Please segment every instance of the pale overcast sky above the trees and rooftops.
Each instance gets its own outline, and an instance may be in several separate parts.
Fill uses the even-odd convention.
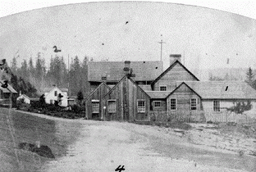
[[[0,16],[5,16],[0,18],[0,54],[8,61],[17,55],[19,61],[28,60],[43,52],[48,62],[55,56],[53,45],[62,49],[60,55],[66,62],[68,54],[78,55],[80,60],[86,55],[97,61],[158,61],[158,42],[163,39],[165,68],[171,53],[181,53],[189,69],[256,64],[255,2],[193,3],[243,16],[162,2],[90,2],[59,7],[48,6],[71,1],[0,2]],[[28,11],[39,7],[48,8]],[[20,11],[26,12],[7,16]]]

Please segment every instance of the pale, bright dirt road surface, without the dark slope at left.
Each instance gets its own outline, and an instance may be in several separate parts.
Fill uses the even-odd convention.
[[[253,171],[255,159],[197,147],[158,127],[82,121],[80,137],[66,156],[42,171]],[[208,151],[212,149],[212,151]]]

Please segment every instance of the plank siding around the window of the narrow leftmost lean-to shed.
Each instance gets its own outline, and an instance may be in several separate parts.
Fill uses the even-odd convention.
[[[100,87],[94,90],[94,93],[92,93],[89,96],[89,98],[85,101],[85,116],[88,119],[98,119],[101,117],[103,112],[102,99],[103,96],[106,95],[109,91],[109,88],[106,85],[102,84]],[[92,100],[99,100],[98,114],[93,114]]]

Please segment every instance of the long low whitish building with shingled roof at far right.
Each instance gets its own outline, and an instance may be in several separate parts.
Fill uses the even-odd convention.
[[[247,104],[256,109],[256,90],[244,81],[185,82],[201,97],[201,110],[226,111],[236,103]]]

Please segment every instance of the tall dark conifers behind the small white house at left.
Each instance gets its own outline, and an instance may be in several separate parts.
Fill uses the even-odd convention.
[[[84,60],[80,61],[79,57],[75,56],[71,58],[68,69],[64,58],[56,55],[51,57],[47,68],[44,57],[38,52],[35,59],[30,57],[29,61],[23,60],[18,67],[16,57],[13,57],[11,71],[14,76],[11,77],[11,84],[16,91],[30,97],[42,95],[43,88],[53,87],[53,84],[58,88],[69,88],[69,96],[76,97],[79,92],[86,96],[89,94],[88,61],[89,57],[85,56]]]

